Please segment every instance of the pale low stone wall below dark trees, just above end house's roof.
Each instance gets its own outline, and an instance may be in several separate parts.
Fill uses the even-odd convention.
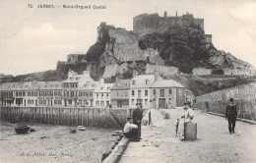
[[[146,74],[155,74],[155,72],[160,72],[164,75],[173,75],[178,74],[178,69],[175,67],[166,67],[160,65],[150,65],[147,64],[146,66]]]

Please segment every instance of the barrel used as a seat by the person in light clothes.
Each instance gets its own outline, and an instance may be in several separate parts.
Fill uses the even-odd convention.
[[[186,122],[184,125],[184,139],[195,140],[197,139],[197,124]]]

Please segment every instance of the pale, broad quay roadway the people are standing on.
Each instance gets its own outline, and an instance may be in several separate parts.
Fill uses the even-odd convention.
[[[182,109],[165,110],[170,119],[163,119],[158,110],[152,110],[152,127],[142,127],[142,140],[130,142],[121,163],[164,162],[256,162],[256,126],[236,122],[236,134],[229,135],[227,121],[195,111],[197,140],[185,141],[175,137],[175,120]]]

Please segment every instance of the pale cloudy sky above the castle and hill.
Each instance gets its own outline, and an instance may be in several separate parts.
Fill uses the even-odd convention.
[[[29,7],[32,4],[33,8]],[[106,9],[37,8],[38,5],[94,5]],[[167,11],[205,19],[219,50],[256,67],[255,0],[1,0],[0,74],[55,70],[71,53],[86,53],[100,22],[132,30],[133,17]]]

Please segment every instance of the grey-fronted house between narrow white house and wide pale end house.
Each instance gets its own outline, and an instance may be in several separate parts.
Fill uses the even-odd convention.
[[[131,80],[116,81],[111,88],[111,105],[113,108],[128,108]]]

